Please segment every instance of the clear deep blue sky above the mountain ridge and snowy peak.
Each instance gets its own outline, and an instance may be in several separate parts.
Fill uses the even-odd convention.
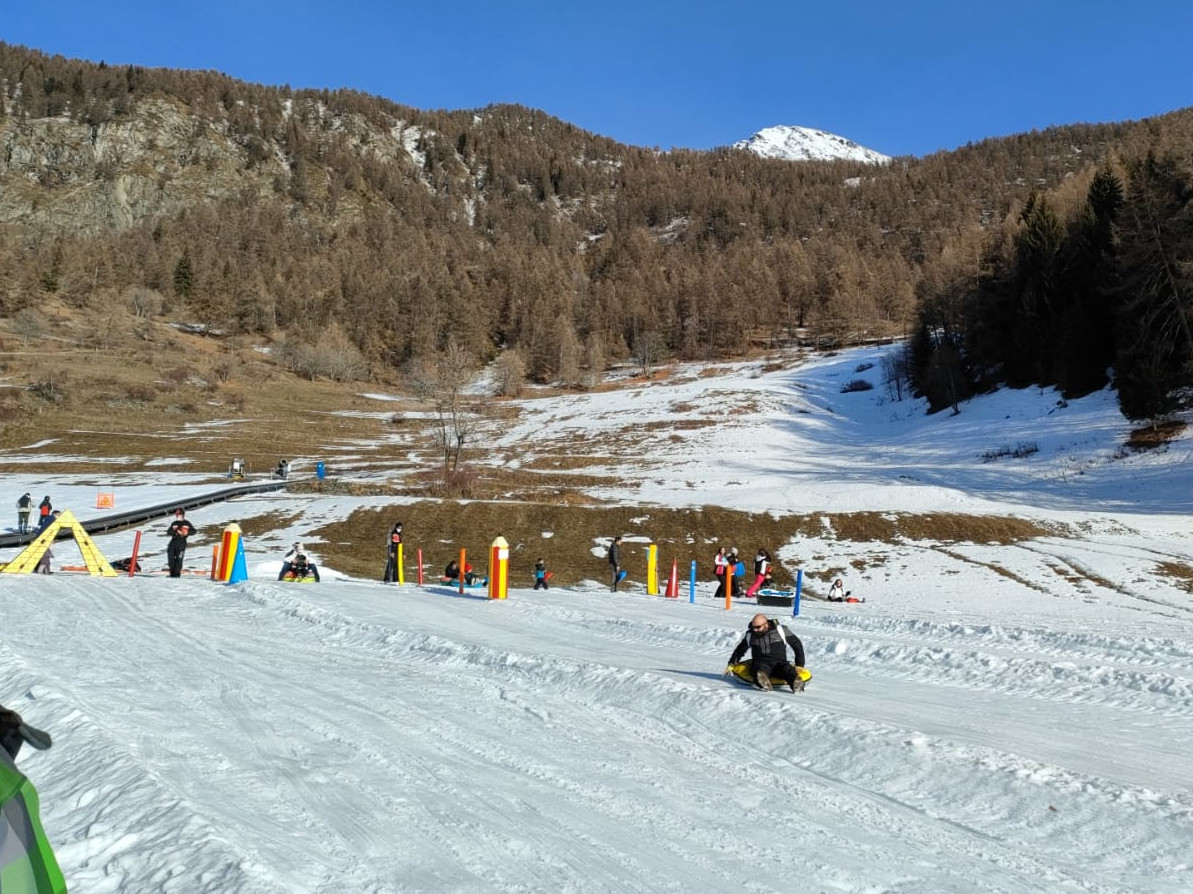
[[[925,155],[1193,105],[1188,0],[0,0],[50,54],[352,87],[418,109],[519,103],[624,143],[773,124]]]

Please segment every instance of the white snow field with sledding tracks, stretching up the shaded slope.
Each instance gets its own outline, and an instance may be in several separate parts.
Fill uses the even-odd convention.
[[[815,674],[803,693],[724,679],[756,608],[727,611],[706,569],[694,603],[686,586],[647,596],[641,549],[617,594],[589,581],[490,602],[350,579],[334,555],[316,555],[322,584],[272,580],[289,542],[382,498],[190,513],[199,566],[241,514],[295,519],[247,544],[249,580],[231,586],[0,575],[0,702],[55,738],[20,765],[70,889],[1193,890],[1193,439],[1123,450],[1109,393],[1003,391],[926,417],[883,393],[889,350],[527,397],[492,434],[493,462],[599,449],[596,495],[644,516],[710,503],[1052,531],[890,544],[826,524],[773,544],[809,594],[830,582],[818,566],[864,560],[846,581],[864,604],[805,598],[787,619]],[[859,377],[876,388],[841,393]],[[685,413],[727,421],[669,427]],[[52,451],[0,456],[10,505],[93,501],[93,481],[21,471]],[[117,468],[107,489],[131,508],[221,486],[154,476]],[[97,542],[118,557],[131,537]]]

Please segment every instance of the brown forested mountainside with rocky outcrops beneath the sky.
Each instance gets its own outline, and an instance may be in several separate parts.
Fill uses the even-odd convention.
[[[1167,172],[1157,214],[1187,217],[1191,130],[1183,111],[885,167],[789,162],[622,146],[520,106],[420,111],[0,43],[0,314],[119,303],[322,344],[351,362],[313,374],[358,377],[455,341],[478,359],[517,351],[531,377],[564,384],[613,359],[736,356],[797,331],[919,332],[920,386],[959,395],[1059,375],[984,351],[1038,359],[1104,328],[1039,284],[1024,240],[1045,206],[1067,238],[1094,238],[1077,230],[1100,169],[1129,185],[1143,234],[1127,172],[1148,158]],[[1141,277],[1160,282],[1156,264],[1183,275],[1187,226],[1172,239]],[[1039,296],[1049,326],[1021,315],[982,343],[973,327],[991,323],[971,308],[991,289],[1008,307]]]

